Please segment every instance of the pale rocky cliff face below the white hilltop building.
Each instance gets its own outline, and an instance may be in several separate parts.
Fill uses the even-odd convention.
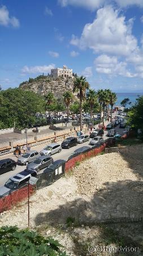
[[[29,81],[22,82],[19,87],[24,90],[31,90],[32,92],[41,95],[53,92],[55,97],[60,98],[67,90],[72,92],[73,79],[64,79],[63,77],[54,79],[50,76],[38,76],[36,79],[29,79]]]

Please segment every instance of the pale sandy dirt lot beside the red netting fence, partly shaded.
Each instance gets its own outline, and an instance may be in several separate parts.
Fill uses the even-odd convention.
[[[31,197],[31,228],[58,239],[72,256],[97,255],[88,251],[88,246],[93,243],[142,246],[142,222],[114,226],[96,224],[107,219],[142,217],[142,167],[143,159],[119,153],[99,155],[84,161],[72,173],[38,190]],[[69,217],[70,224],[67,222]],[[0,226],[3,225],[26,228],[27,201],[1,213]],[[107,237],[112,239],[107,242]],[[136,255],[143,255],[140,250]],[[102,255],[110,254],[102,252]]]

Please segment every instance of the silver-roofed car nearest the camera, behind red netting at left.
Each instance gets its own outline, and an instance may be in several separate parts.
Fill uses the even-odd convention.
[[[5,185],[0,187],[0,198],[9,195],[11,192],[26,185],[31,177],[36,177],[36,171],[22,171],[7,180]]]

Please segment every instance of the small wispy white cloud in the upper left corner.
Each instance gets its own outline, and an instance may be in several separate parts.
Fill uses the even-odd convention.
[[[12,27],[19,27],[20,23],[17,18],[10,17],[9,16],[9,11],[7,10],[6,6],[2,6],[0,8],[0,25],[2,26],[9,26],[11,25]]]

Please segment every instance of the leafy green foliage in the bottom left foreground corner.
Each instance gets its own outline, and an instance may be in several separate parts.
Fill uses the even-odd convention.
[[[28,229],[16,226],[0,228],[0,254],[14,256],[66,256],[60,251],[60,243]]]

